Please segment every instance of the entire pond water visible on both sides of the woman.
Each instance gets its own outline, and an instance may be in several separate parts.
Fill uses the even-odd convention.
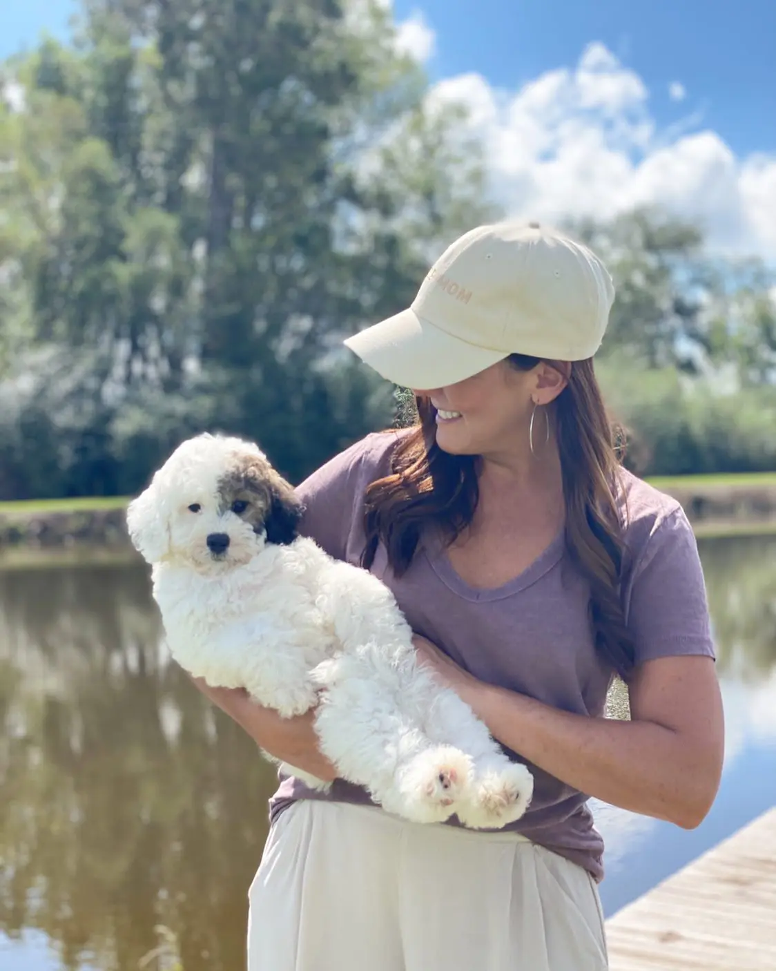
[[[725,775],[692,832],[595,805],[616,912],[776,804],[776,538],[702,540]],[[239,971],[274,769],[167,664],[137,566],[0,572],[0,971]]]

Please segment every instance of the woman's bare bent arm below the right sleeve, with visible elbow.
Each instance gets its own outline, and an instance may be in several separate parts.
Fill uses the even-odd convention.
[[[686,829],[720,784],[724,717],[710,657],[646,661],[629,683],[630,721],[591,719],[483,684],[423,638],[422,661],[466,701],[495,739],[568,786]]]

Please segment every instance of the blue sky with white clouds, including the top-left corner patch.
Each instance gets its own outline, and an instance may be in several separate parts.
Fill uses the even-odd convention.
[[[391,0],[381,0],[391,5]],[[0,56],[75,0],[0,0]],[[659,203],[776,259],[776,0],[392,0],[435,96],[467,102],[514,215]]]

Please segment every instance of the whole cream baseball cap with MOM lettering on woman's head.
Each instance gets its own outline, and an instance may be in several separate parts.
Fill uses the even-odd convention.
[[[512,353],[591,357],[614,297],[586,246],[538,222],[498,222],[457,239],[409,309],[345,344],[395,385],[445,387]]]

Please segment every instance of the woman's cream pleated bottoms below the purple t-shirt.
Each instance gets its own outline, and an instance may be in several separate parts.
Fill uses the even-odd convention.
[[[249,971],[604,971],[598,891],[514,833],[303,800],[250,891]]]

